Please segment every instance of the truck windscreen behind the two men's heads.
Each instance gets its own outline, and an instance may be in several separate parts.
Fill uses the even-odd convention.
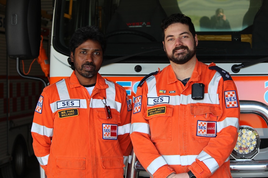
[[[69,55],[72,33],[82,26],[97,25],[107,37],[104,60],[163,48],[161,21],[174,13],[192,19],[198,35],[197,57],[228,61],[267,55],[252,53],[252,26],[262,0],[59,0],[54,21],[53,46]],[[140,55],[159,62],[163,50]],[[135,57],[132,57],[136,60]],[[206,61],[207,60],[207,61]]]

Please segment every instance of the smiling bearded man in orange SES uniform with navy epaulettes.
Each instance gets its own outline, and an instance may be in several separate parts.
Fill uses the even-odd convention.
[[[240,116],[236,86],[228,72],[196,59],[198,40],[189,17],[170,15],[162,32],[170,65],[138,85],[130,134],[134,152],[154,178],[229,178]]]

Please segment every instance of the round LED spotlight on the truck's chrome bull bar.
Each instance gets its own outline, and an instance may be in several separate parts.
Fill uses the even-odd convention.
[[[247,125],[239,127],[238,138],[232,152],[235,159],[252,159],[258,152],[260,137],[257,131]]]

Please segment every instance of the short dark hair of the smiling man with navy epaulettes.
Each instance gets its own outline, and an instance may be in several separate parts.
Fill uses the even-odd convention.
[[[192,33],[193,37],[196,35],[195,27],[194,24],[192,23],[192,20],[190,17],[183,15],[183,14],[172,14],[169,17],[166,17],[164,20],[162,20],[162,37],[164,40],[165,37],[165,30],[169,27],[171,24],[175,23],[181,23],[181,24],[186,24],[189,26],[189,30]]]

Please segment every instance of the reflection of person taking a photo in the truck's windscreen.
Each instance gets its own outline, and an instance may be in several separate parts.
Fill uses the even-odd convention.
[[[221,8],[216,10],[216,14],[211,17],[210,21],[213,29],[231,29],[229,21]]]

